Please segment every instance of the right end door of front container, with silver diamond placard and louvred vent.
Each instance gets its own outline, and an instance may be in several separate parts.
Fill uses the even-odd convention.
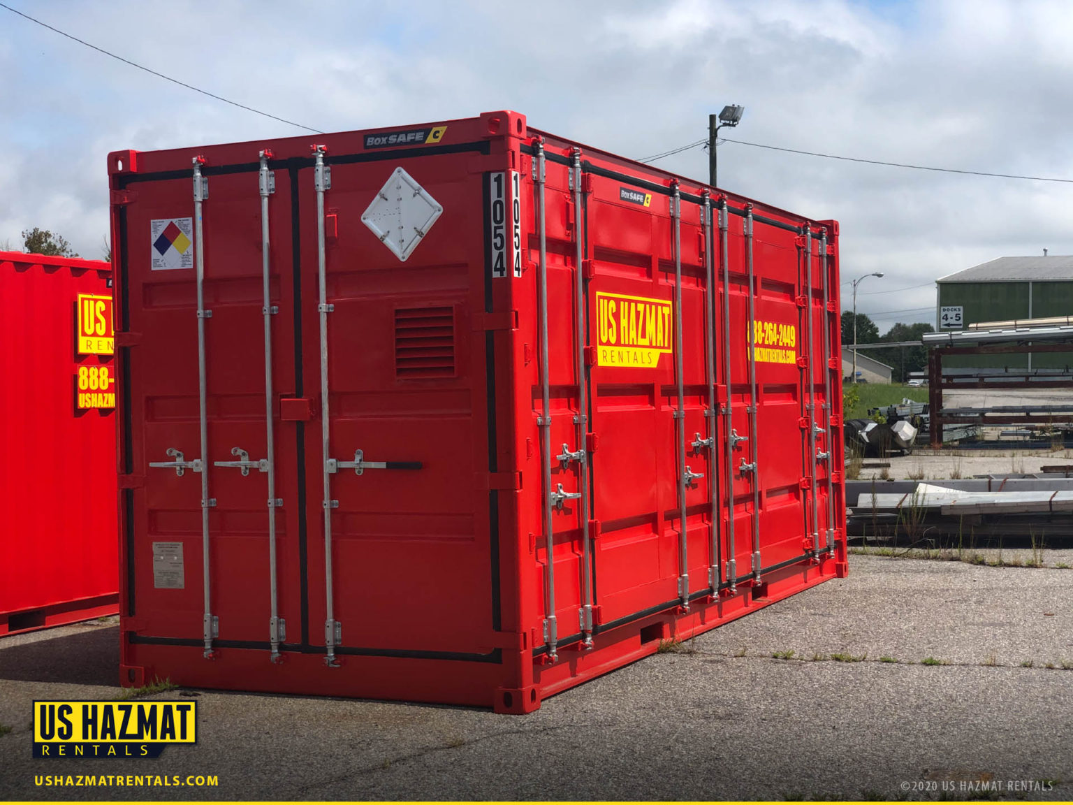
[[[369,652],[491,656],[498,569],[489,572],[486,339],[474,318],[484,309],[486,179],[470,172],[472,156],[332,164],[327,155],[323,345],[314,170],[297,174],[308,393],[321,390],[322,346],[328,366],[328,455],[323,410],[304,445],[309,639],[326,643],[327,499],[343,662]],[[402,260],[363,216],[382,234],[411,199],[422,215],[429,205],[442,213],[418,224],[423,236]],[[325,459],[338,467],[327,498]]]

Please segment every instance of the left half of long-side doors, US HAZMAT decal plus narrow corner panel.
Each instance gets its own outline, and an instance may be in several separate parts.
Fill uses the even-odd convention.
[[[586,574],[599,629],[681,597],[709,588],[714,558],[711,500],[718,501],[721,445],[712,439],[709,410],[708,304],[700,209],[684,213],[682,318],[685,466],[679,466],[679,411],[676,375],[675,268],[672,223],[664,206],[636,209],[619,203],[618,184],[593,177],[578,220],[584,260],[589,263],[582,316],[575,298],[574,245],[557,246],[548,257],[548,346],[553,356],[550,492],[562,487],[590,495],[590,523],[582,523],[578,499],[553,513],[556,540],[556,615],[560,639],[577,631]],[[607,187],[604,187],[606,184]],[[624,195],[624,194],[623,194]],[[549,203],[549,218],[559,213]],[[682,205],[686,206],[685,204]],[[570,218],[570,216],[564,216]],[[568,257],[560,257],[565,252]],[[721,326],[721,319],[716,322]],[[587,347],[588,405],[583,437],[575,358],[577,341]],[[570,452],[588,451],[585,477]],[[681,544],[678,479],[686,486],[686,544]],[[718,506],[718,503],[717,503]],[[585,565],[583,535],[590,538]],[[716,547],[718,552],[718,547]],[[684,564],[685,559],[685,564]],[[545,571],[546,572],[546,571]]]

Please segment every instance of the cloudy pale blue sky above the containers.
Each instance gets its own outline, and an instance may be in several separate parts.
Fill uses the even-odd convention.
[[[512,108],[629,157],[720,132],[719,186],[840,222],[843,306],[935,322],[934,280],[1073,254],[1073,184],[913,171],[731,141],[1073,178],[1065,0],[3,0],[187,84],[322,131]],[[100,258],[105,157],[302,134],[0,9],[0,247],[41,226]],[[657,162],[704,179],[693,148]]]

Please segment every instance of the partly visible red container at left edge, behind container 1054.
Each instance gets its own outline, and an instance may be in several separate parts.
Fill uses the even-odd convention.
[[[0,634],[115,615],[112,265],[0,251]]]

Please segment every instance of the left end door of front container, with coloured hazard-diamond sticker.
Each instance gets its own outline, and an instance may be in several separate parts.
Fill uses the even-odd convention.
[[[256,164],[256,152],[250,155]],[[299,516],[295,429],[280,422],[279,397],[294,396],[295,342],[291,182],[275,172],[269,200],[275,377],[276,495],[269,514],[266,451],[262,224],[255,167],[205,167],[204,307],[208,452],[201,455],[194,202],[191,179],[131,182],[126,216],[130,331],[130,429],[135,474],[129,528],[130,582],[138,639],[203,640],[201,472],[208,473],[210,595],[218,646],[267,647],[270,618],[268,517],[276,521],[279,616],[300,640]],[[210,312],[209,312],[210,311]],[[173,451],[171,454],[168,451]],[[245,455],[239,453],[242,451]],[[185,467],[172,464],[182,454]],[[239,466],[219,466],[249,460]],[[178,470],[181,469],[181,474]]]

